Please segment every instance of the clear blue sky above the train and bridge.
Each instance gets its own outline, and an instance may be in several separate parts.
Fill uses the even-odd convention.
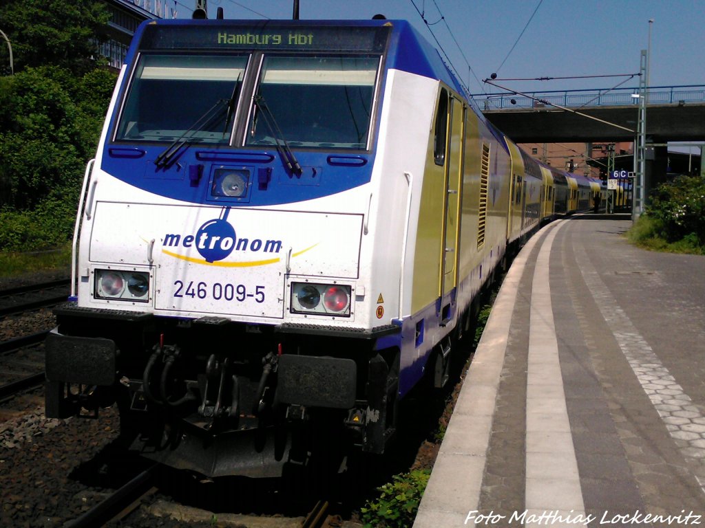
[[[177,0],[178,18],[189,18],[194,6],[195,0]],[[219,6],[225,18],[293,14],[293,0],[208,0],[209,18]],[[482,82],[492,73],[497,84],[519,92],[638,87],[638,77],[628,75],[639,73],[642,49],[651,51],[651,87],[705,84],[705,0],[299,0],[299,6],[302,20],[377,13],[409,20],[439,47],[430,28],[472,94],[503,93]],[[596,75],[615,77],[507,80]]]

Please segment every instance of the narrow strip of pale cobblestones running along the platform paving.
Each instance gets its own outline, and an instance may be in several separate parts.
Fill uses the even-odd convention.
[[[575,252],[584,281],[617,344],[671,438],[696,468],[695,478],[705,493],[705,415],[639,334],[591,264],[584,248],[576,246]]]

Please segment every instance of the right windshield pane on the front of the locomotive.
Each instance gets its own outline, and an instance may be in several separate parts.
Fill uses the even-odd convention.
[[[379,56],[265,56],[257,96],[276,126],[253,109],[245,144],[367,149],[378,70]]]

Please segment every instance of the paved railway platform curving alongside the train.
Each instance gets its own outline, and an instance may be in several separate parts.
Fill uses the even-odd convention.
[[[705,257],[630,225],[575,215],[517,256],[414,528],[705,526]]]

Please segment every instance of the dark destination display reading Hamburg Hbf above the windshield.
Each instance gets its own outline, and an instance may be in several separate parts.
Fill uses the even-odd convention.
[[[262,25],[149,25],[140,49],[273,49],[369,51],[386,47],[389,27]]]

